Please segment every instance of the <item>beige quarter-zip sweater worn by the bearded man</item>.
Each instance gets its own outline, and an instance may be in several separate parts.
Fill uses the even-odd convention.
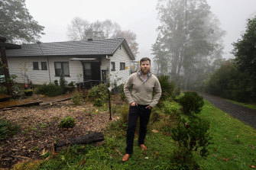
[[[143,82],[139,73],[134,72],[125,83],[124,91],[129,104],[135,101],[137,104],[150,105],[151,107],[156,106],[162,94],[160,83],[157,77],[152,73],[149,75],[146,82]]]

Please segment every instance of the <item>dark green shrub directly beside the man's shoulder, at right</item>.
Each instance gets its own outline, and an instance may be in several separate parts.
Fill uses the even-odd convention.
[[[175,84],[174,84],[174,82],[170,82],[170,76],[169,75],[160,75],[158,77],[158,80],[160,82],[160,86],[162,89],[162,95],[161,95],[160,100],[166,101],[167,99],[171,100],[172,98],[174,98]]]

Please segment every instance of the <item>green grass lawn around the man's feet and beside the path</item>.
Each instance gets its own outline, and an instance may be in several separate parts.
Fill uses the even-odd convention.
[[[154,113],[154,112],[153,112]],[[201,169],[251,169],[256,166],[256,130],[205,101],[199,117],[210,121],[210,133],[214,144],[209,146],[206,159],[194,153]],[[158,125],[157,125],[158,123]],[[168,169],[173,149],[177,143],[163,132],[160,122],[149,128],[146,145],[149,150],[142,151],[134,140],[134,153],[128,162],[121,161],[125,153],[125,125],[112,124],[105,131],[105,143],[99,146],[72,146],[51,155],[41,162],[20,164],[18,169]],[[153,133],[151,130],[158,130]],[[166,130],[166,129],[165,129]],[[121,152],[121,153],[120,153]]]

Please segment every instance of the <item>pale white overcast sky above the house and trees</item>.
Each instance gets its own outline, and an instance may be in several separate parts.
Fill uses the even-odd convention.
[[[187,0],[189,1],[189,0]],[[232,43],[245,31],[246,20],[256,14],[256,0],[207,0],[211,11],[226,30],[225,57],[231,57]],[[66,41],[67,25],[79,17],[89,22],[110,19],[122,30],[137,34],[139,54],[137,59],[150,56],[151,45],[157,37],[157,0],[26,0],[28,11],[35,21],[44,26],[41,41]]]

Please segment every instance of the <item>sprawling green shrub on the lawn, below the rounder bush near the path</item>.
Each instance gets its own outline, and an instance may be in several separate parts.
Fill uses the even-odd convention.
[[[209,146],[212,137],[209,136],[209,121],[199,117],[188,117],[180,119],[176,128],[171,130],[173,140],[183,146],[187,152],[192,152],[200,149],[200,156],[209,154],[207,146]]]

